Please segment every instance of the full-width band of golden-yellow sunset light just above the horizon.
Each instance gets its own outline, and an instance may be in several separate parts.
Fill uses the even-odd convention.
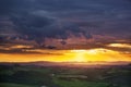
[[[104,48],[90,50],[25,50],[40,53],[33,54],[11,54],[0,53],[0,62],[32,62],[32,61],[50,61],[50,62],[116,62],[130,61],[131,54]]]

